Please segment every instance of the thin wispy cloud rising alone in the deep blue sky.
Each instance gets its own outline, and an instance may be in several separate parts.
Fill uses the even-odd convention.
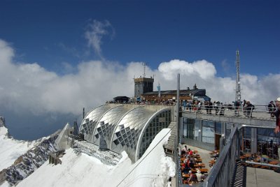
[[[87,39],[88,47],[92,47],[94,52],[101,58],[104,59],[102,55],[102,37],[110,35],[113,37],[115,31],[108,20],[104,22],[99,22],[97,20],[90,21],[87,24],[87,29],[85,31],[85,38]]]

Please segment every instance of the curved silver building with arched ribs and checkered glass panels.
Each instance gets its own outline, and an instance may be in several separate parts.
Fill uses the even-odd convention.
[[[141,158],[155,135],[169,126],[171,112],[170,107],[156,111],[144,106],[102,105],[86,115],[79,133],[97,145],[103,137],[107,148],[118,153],[126,151],[134,162]]]

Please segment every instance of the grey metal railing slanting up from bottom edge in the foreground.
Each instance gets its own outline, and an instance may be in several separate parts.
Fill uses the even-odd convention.
[[[212,167],[203,186],[230,186],[234,177],[236,160],[239,158],[239,130],[237,126],[230,133],[227,144]]]

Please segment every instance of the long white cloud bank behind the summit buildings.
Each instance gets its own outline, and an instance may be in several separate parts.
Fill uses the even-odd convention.
[[[73,73],[57,75],[38,63],[14,61],[13,47],[0,39],[0,113],[40,115],[80,114],[102,105],[115,96],[134,96],[133,77],[142,75],[142,62],[126,65],[116,61],[83,61]],[[216,68],[207,60],[193,62],[174,59],[160,63],[157,70],[146,67],[147,77],[155,75],[162,90],[176,89],[180,73],[181,89],[206,89],[212,100],[235,100],[235,77],[217,77]],[[263,77],[241,73],[241,98],[253,104],[267,105],[280,94],[279,74]],[[154,90],[156,89],[154,85]]]

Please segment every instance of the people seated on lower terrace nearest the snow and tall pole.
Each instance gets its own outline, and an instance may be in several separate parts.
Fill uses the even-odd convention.
[[[195,174],[192,172],[192,169],[195,168],[196,164],[194,151],[188,149],[185,145],[185,147],[181,150],[181,158],[186,158],[183,160],[183,165],[181,165],[181,171],[190,175],[187,179],[187,183],[193,185],[195,182],[201,182],[203,180],[203,174],[200,170],[197,170]]]

